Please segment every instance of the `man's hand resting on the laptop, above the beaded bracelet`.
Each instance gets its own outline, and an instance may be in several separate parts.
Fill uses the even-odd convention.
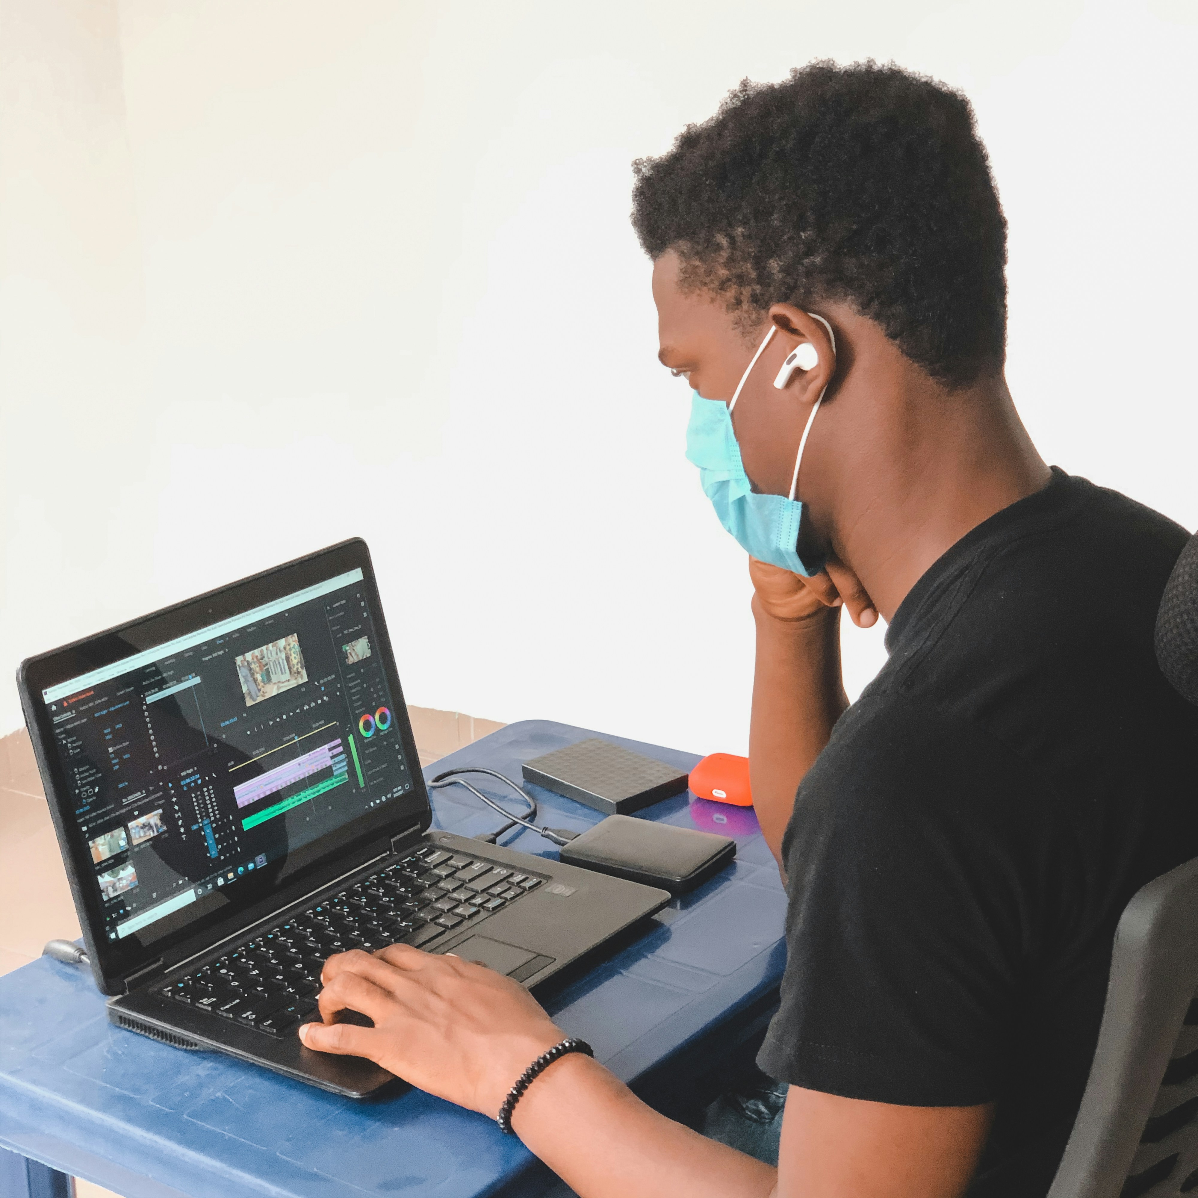
[[[406,944],[329,957],[308,1048],[367,1057],[429,1094],[492,1119],[516,1078],[565,1033],[519,982]],[[338,1023],[359,1011],[373,1028]],[[552,1067],[557,1067],[556,1063]]]

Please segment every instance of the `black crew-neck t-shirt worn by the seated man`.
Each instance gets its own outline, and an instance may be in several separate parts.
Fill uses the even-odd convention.
[[[1115,925],[1198,857],[1198,708],[1152,651],[1187,539],[1053,468],[912,588],[783,840],[780,1081],[996,1103],[970,1198],[1040,1198],[1097,1042]]]

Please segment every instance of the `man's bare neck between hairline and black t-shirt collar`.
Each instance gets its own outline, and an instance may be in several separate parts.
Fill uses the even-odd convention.
[[[933,562],[1052,473],[1000,376],[949,394],[916,388],[876,415],[881,440],[855,455],[869,485],[846,480],[833,547],[889,622]]]

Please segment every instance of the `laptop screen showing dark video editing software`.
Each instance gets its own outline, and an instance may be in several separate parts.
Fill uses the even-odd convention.
[[[42,697],[110,940],[237,903],[412,789],[361,569]]]

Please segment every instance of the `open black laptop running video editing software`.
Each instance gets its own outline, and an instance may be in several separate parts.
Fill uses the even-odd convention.
[[[109,1019],[180,1048],[364,1097],[392,1076],[296,1034],[327,957],[404,943],[534,987],[670,897],[431,828],[361,539],[30,658],[18,685]]]

